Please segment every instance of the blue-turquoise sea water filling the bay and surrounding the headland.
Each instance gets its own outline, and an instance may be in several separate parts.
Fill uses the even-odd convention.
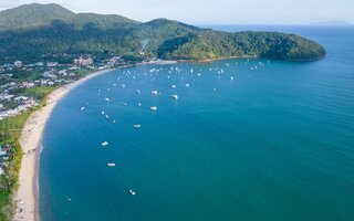
[[[146,65],[72,91],[44,134],[42,221],[354,220],[354,29],[275,30],[327,56]]]

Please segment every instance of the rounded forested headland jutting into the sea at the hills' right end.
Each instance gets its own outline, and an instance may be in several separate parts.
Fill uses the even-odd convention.
[[[204,31],[165,41],[157,54],[159,57],[174,60],[237,56],[311,61],[322,57],[324,50],[320,44],[294,34]]]

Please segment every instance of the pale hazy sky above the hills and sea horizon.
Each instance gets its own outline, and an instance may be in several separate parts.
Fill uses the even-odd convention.
[[[354,0],[0,0],[0,10],[33,2],[137,21],[167,18],[191,24],[354,23]]]

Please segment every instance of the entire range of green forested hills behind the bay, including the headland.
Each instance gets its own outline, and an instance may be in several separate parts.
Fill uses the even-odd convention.
[[[24,4],[0,12],[0,61],[54,54],[212,60],[229,56],[312,61],[325,55],[311,40],[277,32],[228,33],[157,19],[74,13],[58,4]]]

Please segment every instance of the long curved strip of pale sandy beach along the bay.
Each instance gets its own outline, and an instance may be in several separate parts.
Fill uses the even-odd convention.
[[[42,135],[45,129],[45,124],[58,104],[72,88],[77,85],[102,75],[112,70],[105,70],[90,74],[72,84],[61,86],[48,97],[48,103],[44,107],[32,113],[25,123],[20,144],[23,150],[23,158],[19,175],[19,189],[14,194],[14,203],[17,210],[13,220],[38,221],[38,167],[39,156],[41,151]]]

